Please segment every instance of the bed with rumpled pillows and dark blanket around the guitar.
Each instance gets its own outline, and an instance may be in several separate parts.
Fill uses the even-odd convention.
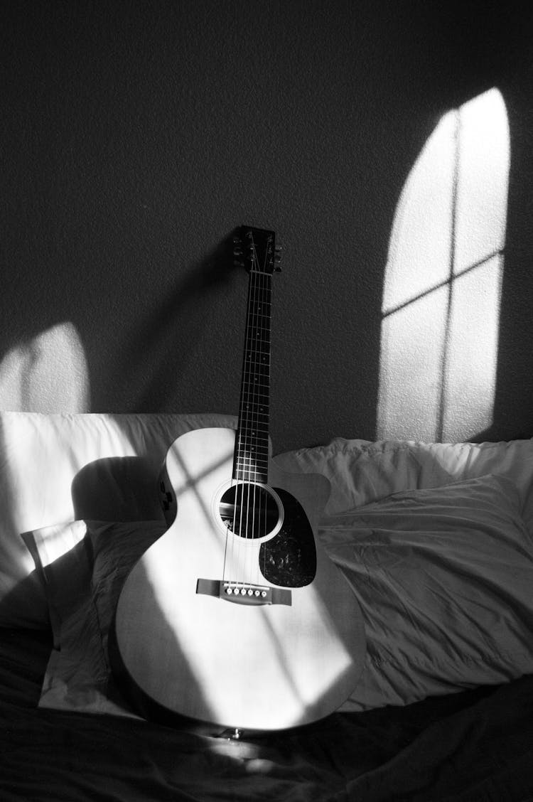
[[[240,739],[129,706],[108,635],[166,529],[160,465],[184,432],[235,423],[0,413],[0,798],[531,799],[531,440],[278,455],[331,483],[318,537],[365,622],[357,687],[325,719]]]

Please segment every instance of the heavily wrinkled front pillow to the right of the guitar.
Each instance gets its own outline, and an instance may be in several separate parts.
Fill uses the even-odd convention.
[[[399,492],[320,534],[365,619],[365,670],[344,710],[533,671],[533,539],[507,478]]]

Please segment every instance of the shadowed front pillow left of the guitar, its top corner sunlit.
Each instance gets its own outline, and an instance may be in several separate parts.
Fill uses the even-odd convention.
[[[26,534],[54,634],[40,707],[130,715],[113,681],[107,636],[127,573],[166,529],[161,520],[77,520]]]

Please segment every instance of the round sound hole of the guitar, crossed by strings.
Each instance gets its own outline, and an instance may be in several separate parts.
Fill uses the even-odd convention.
[[[280,518],[272,494],[252,482],[228,488],[220,499],[219,512],[224,526],[239,537],[269,535]]]

